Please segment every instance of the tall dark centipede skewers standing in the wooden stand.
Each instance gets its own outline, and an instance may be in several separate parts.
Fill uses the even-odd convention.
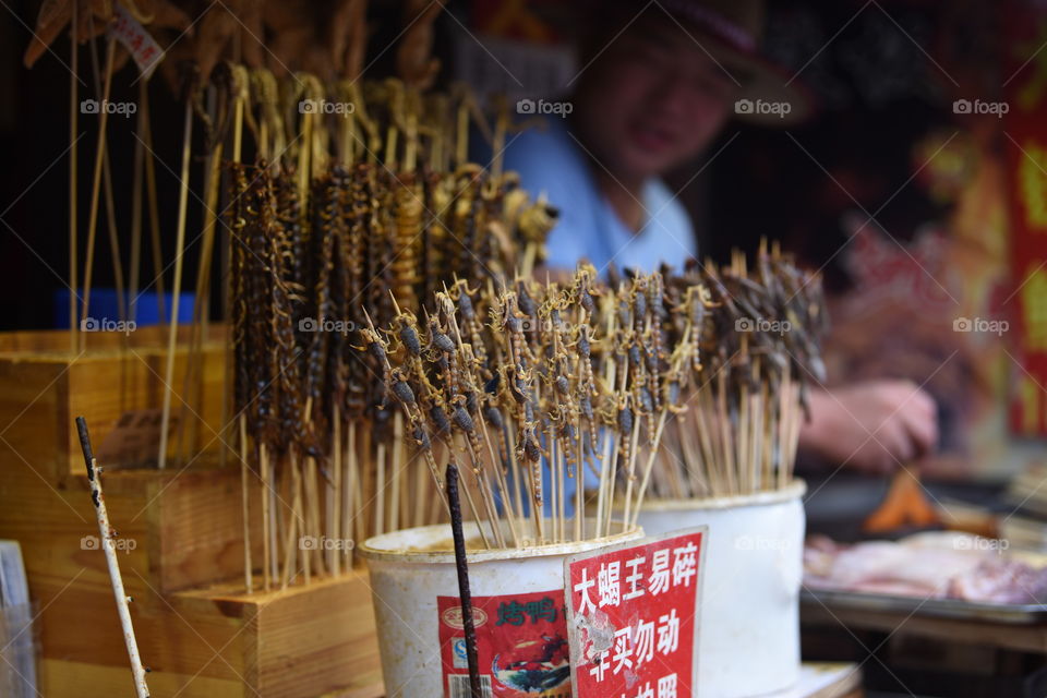
[[[437,317],[436,293],[447,284],[460,293],[456,279],[529,275],[556,216],[514,174],[466,161],[474,117],[464,93],[423,99],[387,80],[332,95],[352,108],[301,112],[287,157],[267,136],[284,137],[288,105],[272,100],[328,96],[315,80],[299,93],[265,89],[269,80],[261,74],[258,108],[244,111],[258,160],[227,166],[244,537],[256,516],[266,588],[299,570],[306,582],[340,574],[353,541],[444,516],[419,500],[434,464],[409,453],[414,422],[386,399],[390,369],[358,347],[405,322],[401,309]],[[425,111],[434,103],[457,111],[456,129],[442,128],[443,109]]]

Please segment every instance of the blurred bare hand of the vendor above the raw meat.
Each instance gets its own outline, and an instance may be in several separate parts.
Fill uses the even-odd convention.
[[[887,474],[938,442],[934,399],[910,381],[813,390],[801,447],[856,470]]]

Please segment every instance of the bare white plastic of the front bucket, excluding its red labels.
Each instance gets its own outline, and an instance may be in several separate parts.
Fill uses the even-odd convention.
[[[467,522],[462,528],[467,544],[478,538],[474,522]],[[643,531],[637,528],[577,543],[477,550],[468,554],[470,591],[476,598],[555,590],[557,605],[563,605],[565,557],[641,538]],[[436,598],[458,595],[450,526],[426,526],[377,535],[363,543],[360,554],[368,561],[371,573],[386,696],[440,698],[447,695]]]

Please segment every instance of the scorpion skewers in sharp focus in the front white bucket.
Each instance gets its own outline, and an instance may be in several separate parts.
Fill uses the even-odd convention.
[[[443,491],[440,464],[460,462],[483,545],[606,535],[615,482],[639,506],[641,446],[657,452],[698,350],[689,313],[674,341],[663,336],[664,291],[655,273],[612,292],[588,265],[566,285],[458,280],[424,317],[400,309],[390,326],[363,330],[386,401],[432,473],[426,491]],[[594,520],[586,471],[599,481]]]

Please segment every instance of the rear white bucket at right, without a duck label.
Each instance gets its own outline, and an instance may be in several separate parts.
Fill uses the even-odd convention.
[[[648,535],[708,526],[698,693],[744,698],[799,681],[799,588],[806,484],[711,500],[647,500]]]

